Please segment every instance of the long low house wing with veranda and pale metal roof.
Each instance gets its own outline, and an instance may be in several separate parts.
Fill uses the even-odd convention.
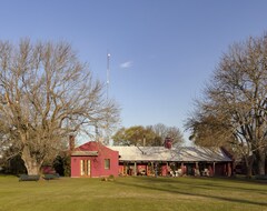
[[[221,149],[110,147],[119,152],[120,175],[230,177],[233,161]]]

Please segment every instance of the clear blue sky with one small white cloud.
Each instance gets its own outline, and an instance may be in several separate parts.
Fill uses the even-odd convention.
[[[120,125],[184,132],[222,53],[267,31],[266,10],[266,0],[0,0],[0,40],[69,42],[103,82],[110,53]]]

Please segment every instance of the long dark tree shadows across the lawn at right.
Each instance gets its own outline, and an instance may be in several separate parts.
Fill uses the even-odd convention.
[[[145,181],[146,184],[144,184],[140,181]],[[185,190],[185,189],[179,189],[177,187],[171,185],[171,183],[180,183],[182,185],[188,185],[189,188],[198,188],[198,190],[205,189],[205,190],[211,190],[210,187],[217,187],[217,188],[221,188],[221,189],[230,189],[230,187],[225,187],[225,185],[218,185],[218,184],[212,184],[211,182],[208,183],[208,187],[205,185],[199,185],[199,184],[195,184],[195,183],[189,183],[189,182],[185,182],[185,181],[179,181],[179,180],[174,180],[174,179],[162,179],[162,178],[134,178],[132,182],[129,181],[116,181],[117,184],[120,185],[126,185],[126,187],[132,187],[132,188],[141,188],[141,189],[147,189],[147,190],[155,190],[155,191],[162,191],[162,192],[168,192],[168,193],[175,193],[175,194],[184,194],[184,195],[189,195],[189,197],[201,197],[201,198],[208,198],[208,199],[215,199],[215,200],[221,200],[221,201],[227,201],[227,202],[236,202],[236,203],[244,203],[244,204],[253,204],[253,205],[267,205],[267,202],[258,202],[258,201],[253,201],[253,200],[248,200],[248,199],[235,199],[235,198],[230,198],[233,195],[229,195],[229,198],[227,197],[219,197],[219,195],[209,195],[209,194],[205,194],[205,193],[196,193],[196,192],[189,192],[189,190]],[[166,183],[168,185],[164,184],[160,187],[158,184],[160,183]],[[149,185],[152,184],[152,185]],[[235,190],[236,188],[231,188],[233,190]],[[239,188],[237,188],[239,189]],[[240,188],[240,190],[244,190],[243,188]],[[245,189],[246,191],[255,191],[255,189]],[[261,192],[260,192],[261,193]],[[266,193],[264,193],[266,194]]]

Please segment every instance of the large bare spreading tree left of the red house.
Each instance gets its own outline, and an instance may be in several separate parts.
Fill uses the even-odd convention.
[[[1,132],[21,153],[29,174],[66,145],[70,132],[116,123],[119,110],[107,101],[68,43],[0,41]]]

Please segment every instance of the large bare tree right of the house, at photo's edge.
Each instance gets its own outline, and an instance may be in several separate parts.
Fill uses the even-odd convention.
[[[265,174],[267,150],[266,34],[233,44],[229,52],[222,56],[204,96],[198,111],[189,120],[192,131],[197,131],[198,137],[201,132],[205,134],[227,133],[224,140],[229,141],[231,138],[231,144],[243,153],[248,177],[251,177],[254,162],[257,162],[258,173]],[[198,121],[199,117],[200,121]],[[214,117],[216,121],[208,120],[209,117]],[[212,127],[211,122],[216,122],[218,128]],[[208,130],[202,130],[206,125]],[[214,141],[217,141],[215,135]]]

